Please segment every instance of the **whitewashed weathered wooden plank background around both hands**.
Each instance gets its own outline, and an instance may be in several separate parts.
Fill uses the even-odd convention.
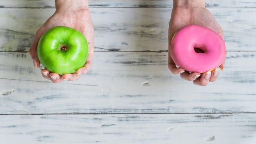
[[[28,49],[54,0],[0,0],[0,144],[255,144],[255,0],[206,0],[228,52],[205,87],[167,68],[172,0],[89,3],[93,67],[53,84]]]

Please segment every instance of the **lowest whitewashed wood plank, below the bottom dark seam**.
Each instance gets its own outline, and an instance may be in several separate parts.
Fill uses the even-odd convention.
[[[254,144],[256,114],[1,115],[2,144]]]

